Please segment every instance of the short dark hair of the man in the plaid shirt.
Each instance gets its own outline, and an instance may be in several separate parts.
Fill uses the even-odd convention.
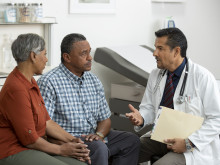
[[[61,48],[61,62],[64,62],[63,53],[70,53],[73,49],[73,44],[79,41],[85,41],[86,37],[79,33],[71,33],[66,35],[60,45]]]

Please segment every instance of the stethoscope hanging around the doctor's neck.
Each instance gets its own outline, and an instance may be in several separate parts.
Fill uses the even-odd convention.
[[[177,102],[179,104],[182,104],[184,102],[184,97],[183,97],[183,93],[185,91],[185,87],[186,87],[186,80],[187,80],[187,77],[188,77],[188,71],[189,71],[189,63],[188,63],[188,59],[186,57],[186,70],[185,70],[185,75],[184,75],[184,78],[183,78],[183,83],[182,83],[182,86],[181,86],[181,89],[180,89],[180,93],[179,93],[179,96],[177,98]],[[163,78],[163,76],[165,75],[165,73],[167,72],[166,69],[163,69],[160,71],[159,73],[159,77],[157,79],[157,82],[156,82],[156,85],[154,87],[154,93],[156,92],[157,88],[159,87],[159,84]]]

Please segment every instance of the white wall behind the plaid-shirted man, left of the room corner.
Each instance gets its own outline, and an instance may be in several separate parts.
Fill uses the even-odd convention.
[[[54,3],[52,0],[45,2],[46,6]],[[58,24],[54,26],[53,40],[54,60],[57,65],[60,61],[60,42],[68,33],[82,33],[90,42],[93,51],[96,47],[114,45],[140,45],[152,42],[150,30],[151,9],[150,1],[146,0],[120,0],[117,1],[115,14],[69,14],[68,1],[58,2],[59,8],[45,9],[45,16],[56,16]],[[58,14],[59,13],[59,14]],[[151,35],[151,36],[150,36]],[[99,76],[104,84],[106,97],[110,95],[110,84],[112,82],[127,81],[127,79],[116,72],[93,62],[92,72]]]

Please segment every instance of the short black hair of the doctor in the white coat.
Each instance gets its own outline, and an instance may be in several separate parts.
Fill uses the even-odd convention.
[[[165,28],[155,32],[156,37],[167,36],[167,45],[170,49],[179,46],[181,48],[181,56],[186,57],[187,39],[183,32],[178,28]]]

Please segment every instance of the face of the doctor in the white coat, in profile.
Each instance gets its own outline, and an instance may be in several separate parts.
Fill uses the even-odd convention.
[[[167,36],[156,38],[153,56],[156,58],[159,69],[170,70],[174,63],[174,50],[170,50],[170,47],[166,43]]]

